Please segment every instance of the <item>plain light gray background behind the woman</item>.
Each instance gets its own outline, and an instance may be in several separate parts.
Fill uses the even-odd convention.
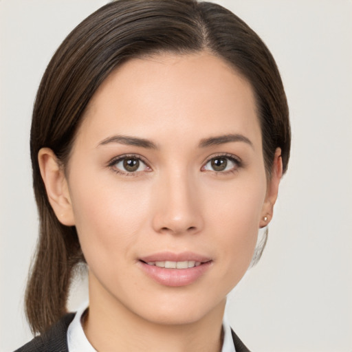
[[[230,322],[256,352],[351,352],[352,2],[215,2],[270,47],[293,135],[267,248],[230,294]],[[37,232],[29,155],[36,89],[56,47],[104,3],[0,0],[1,351],[31,338],[23,291]]]

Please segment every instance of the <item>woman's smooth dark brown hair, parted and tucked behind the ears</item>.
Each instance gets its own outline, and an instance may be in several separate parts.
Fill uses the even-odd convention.
[[[250,82],[267,175],[276,147],[282,151],[284,172],[287,169],[285,91],[274,58],[248,25],[220,5],[196,0],[119,0],[104,5],[58,48],[34,104],[30,150],[40,234],[25,298],[34,333],[42,333],[65,314],[74,268],[84,261],[76,228],[62,225],[47,199],[38,164],[40,148],[51,148],[65,166],[89,100],[124,61],[158,52],[201,50],[223,58]]]

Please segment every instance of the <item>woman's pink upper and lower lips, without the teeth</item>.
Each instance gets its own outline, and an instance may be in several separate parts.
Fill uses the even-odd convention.
[[[198,262],[197,266],[185,269],[169,269],[166,267],[158,267],[149,265],[155,262]],[[200,264],[199,264],[200,263]],[[197,281],[211,267],[212,260],[206,256],[195,254],[192,252],[182,252],[179,254],[172,252],[156,253],[145,256],[138,262],[141,269],[154,281],[161,285],[170,287],[186,286]]]

